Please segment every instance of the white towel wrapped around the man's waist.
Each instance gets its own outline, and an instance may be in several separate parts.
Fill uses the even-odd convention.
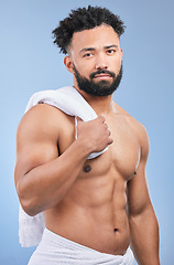
[[[134,257],[130,248],[124,255],[101,253],[45,229],[29,265],[133,265],[133,262]]]

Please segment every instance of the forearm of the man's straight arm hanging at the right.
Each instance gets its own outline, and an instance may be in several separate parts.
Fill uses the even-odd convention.
[[[130,215],[131,248],[139,265],[159,265],[159,224],[152,206]]]

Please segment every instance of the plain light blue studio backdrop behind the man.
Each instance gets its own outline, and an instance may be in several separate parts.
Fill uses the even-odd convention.
[[[121,38],[123,80],[115,100],[148,129],[146,171],[160,223],[161,261],[174,264],[173,0],[0,0],[0,264],[25,265],[34,250],[18,242],[13,182],[18,124],[33,93],[73,84],[51,32],[70,9],[89,3],[109,8],[127,24]]]

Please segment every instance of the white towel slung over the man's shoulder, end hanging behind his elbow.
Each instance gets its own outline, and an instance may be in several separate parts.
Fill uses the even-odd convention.
[[[45,103],[57,107],[62,112],[70,116],[77,116],[84,121],[88,121],[97,118],[97,114],[85,100],[85,98],[72,86],[66,86],[57,91],[43,91],[35,93],[29,100],[25,112],[31,107]],[[75,125],[77,120],[75,119]],[[76,134],[77,137],[77,134]],[[100,156],[101,152],[93,152],[88,159]],[[37,245],[42,239],[44,224],[44,213],[39,213],[35,216],[28,215],[20,205],[19,212],[19,237],[21,246],[34,246]]]

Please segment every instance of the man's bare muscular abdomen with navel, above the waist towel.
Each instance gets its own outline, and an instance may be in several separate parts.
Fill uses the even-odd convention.
[[[81,173],[62,202],[45,212],[45,224],[87,247],[123,255],[130,243],[126,206],[126,180],[111,170]]]

